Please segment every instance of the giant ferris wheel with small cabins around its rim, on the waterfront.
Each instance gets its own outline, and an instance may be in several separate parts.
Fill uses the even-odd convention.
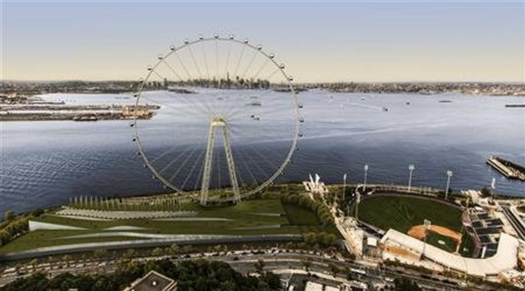
[[[276,181],[302,136],[302,104],[273,53],[233,35],[171,46],[146,68],[133,141],[166,188],[202,205],[238,202]],[[153,118],[144,108],[158,105]]]

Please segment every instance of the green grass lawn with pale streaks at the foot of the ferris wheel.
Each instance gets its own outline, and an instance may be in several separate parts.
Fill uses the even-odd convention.
[[[230,207],[201,207],[195,205],[199,218],[226,218],[227,221],[158,221],[122,219],[112,221],[79,220],[45,214],[35,220],[86,228],[87,230],[37,230],[0,247],[0,253],[30,250],[60,244],[133,240],[131,237],[59,239],[78,234],[108,232],[106,228],[136,226],[148,228],[133,232],[156,234],[300,234],[306,232],[338,233],[335,227],[319,224],[315,214],[295,206],[285,208],[278,199],[247,200]],[[264,228],[280,225],[278,228]],[[261,228],[262,227],[262,228]]]

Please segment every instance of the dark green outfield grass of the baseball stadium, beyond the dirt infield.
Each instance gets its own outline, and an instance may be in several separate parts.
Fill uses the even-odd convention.
[[[359,205],[359,219],[383,230],[393,228],[403,233],[429,219],[433,225],[461,232],[461,210],[418,197],[373,196],[363,199]]]

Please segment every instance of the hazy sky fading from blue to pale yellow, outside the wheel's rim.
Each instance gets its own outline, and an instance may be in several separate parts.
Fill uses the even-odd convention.
[[[170,44],[233,33],[298,82],[525,81],[524,1],[1,3],[2,80],[137,80]]]

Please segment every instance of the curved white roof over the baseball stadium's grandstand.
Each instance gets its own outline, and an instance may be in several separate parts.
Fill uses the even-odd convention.
[[[385,233],[381,239],[381,243],[396,244],[415,253],[423,253],[424,243],[422,241],[394,229],[390,229]],[[463,258],[458,254],[449,253],[430,244],[426,245],[425,258],[470,275],[497,275],[516,267],[518,262],[518,245],[518,239],[502,232],[498,243],[498,250],[496,254],[490,258]]]

